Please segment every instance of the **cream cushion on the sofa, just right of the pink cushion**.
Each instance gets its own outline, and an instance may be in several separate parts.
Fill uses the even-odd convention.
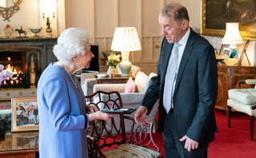
[[[135,83],[138,88],[139,93],[145,93],[146,90],[148,89],[148,83],[150,81],[150,78],[143,72],[137,73],[135,77]]]

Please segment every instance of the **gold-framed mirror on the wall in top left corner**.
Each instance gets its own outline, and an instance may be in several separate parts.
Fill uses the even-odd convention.
[[[4,18],[3,21],[10,22],[9,18],[20,9],[21,2],[22,0],[0,0],[0,15]]]

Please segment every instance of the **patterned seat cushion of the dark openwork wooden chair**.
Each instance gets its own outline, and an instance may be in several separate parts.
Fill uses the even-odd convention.
[[[135,144],[121,144],[116,148],[102,151],[106,157],[158,157],[160,152]]]

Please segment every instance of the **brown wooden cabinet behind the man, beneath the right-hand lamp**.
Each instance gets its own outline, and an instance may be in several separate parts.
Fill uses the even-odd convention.
[[[218,64],[217,76],[218,91],[215,108],[226,110],[228,90],[238,89],[238,81],[246,81],[246,79],[256,79],[256,66],[231,66]]]

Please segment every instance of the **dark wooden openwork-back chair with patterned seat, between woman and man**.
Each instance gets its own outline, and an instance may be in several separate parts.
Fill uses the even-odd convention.
[[[99,100],[95,101],[95,97],[98,97]],[[106,98],[108,99],[106,100]],[[87,104],[96,105],[98,109],[100,106],[103,106],[104,109],[123,107],[118,92],[97,91],[86,96],[86,99]],[[126,143],[124,119],[132,122],[132,126],[129,127],[128,143]],[[118,117],[101,121],[100,124],[96,124],[95,120],[91,123],[91,132],[90,135],[87,135],[89,157],[163,157],[152,136],[152,122],[141,126],[136,124],[134,118],[119,114]]]

